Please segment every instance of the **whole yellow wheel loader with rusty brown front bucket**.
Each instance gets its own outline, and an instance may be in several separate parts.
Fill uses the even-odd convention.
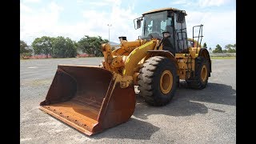
[[[91,135],[129,120],[134,86],[154,106],[170,102],[180,79],[192,88],[205,88],[211,61],[200,45],[202,25],[194,26],[199,28],[195,36],[193,27],[188,41],[185,16],[186,11],[174,8],[151,10],[134,19],[135,29],[142,26],[137,40],[119,37],[120,48],[113,51],[102,44],[102,66],[58,65],[40,109]]]

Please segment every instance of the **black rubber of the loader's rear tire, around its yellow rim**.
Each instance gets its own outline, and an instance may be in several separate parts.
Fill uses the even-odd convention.
[[[206,66],[207,69],[207,76],[206,80],[203,82],[201,79],[201,70],[202,67]],[[202,90],[206,88],[207,83],[208,83],[208,78],[209,78],[209,62],[206,60],[206,58],[203,57],[198,57],[195,59],[195,67],[194,67],[194,78],[190,78],[186,80],[187,86],[189,86],[192,89],[198,89]]]

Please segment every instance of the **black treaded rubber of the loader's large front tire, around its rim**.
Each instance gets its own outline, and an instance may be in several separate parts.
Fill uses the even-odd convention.
[[[165,70],[170,70],[173,76],[173,85],[170,92],[162,93],[160,78]],[[146,60],[138,74],[139,95],[152,106],[164,106],[174,97],[178,85],[177,68],[169,58],[155,56]]]

